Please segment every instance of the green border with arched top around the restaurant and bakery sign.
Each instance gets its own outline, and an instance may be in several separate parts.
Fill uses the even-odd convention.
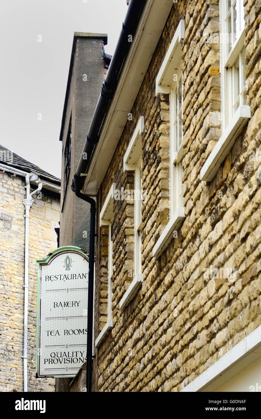
[[[89,258],[82,251],[80,247],[77,246],[62,246],[58,247],[51,253],[49,253],[45,259],[36,259],[37,262],[37,311],[36,311],[36,360],[35,360],[35,372],[36,378],[52,378],[50,375],[38,375],[38,365],[39,365],[39,322],[40,322],[40,278],[41,278],[41,265],[49,265],[50,261],[62,253],[73,252],[78,253],[83,256],[88,262]],[[74,375],[53,375],[53,378],[73,378]]]

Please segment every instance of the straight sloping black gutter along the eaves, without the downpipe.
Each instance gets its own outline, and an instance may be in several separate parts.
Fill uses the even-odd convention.
[[[87,173],[88,171],[88,166],[90,164],[93,150],[99,141],[103,121],[109,108],[109,104],[114,97],[121,68],[124,64],[125,57],[131,45],[129,36],[134,36],[137,30],[140,14],[145,5],[145,2],[146,0],[131,0],[129,2],[129,7],[122,24],[119,40],[117,42],[114,55],[111,59],[106,78],[103,82],[101,94],[93,114],[93,119],[90,123],[85,145],[83,147],[83,153],[74,175],[74,179],[72,181],[72,190],[75,189],[76,184],[78,184],[80,189],[83,187],[84,176],[80,175],[81,173]]]

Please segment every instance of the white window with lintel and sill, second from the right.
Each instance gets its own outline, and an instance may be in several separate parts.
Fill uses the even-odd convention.
[[[176,121],[174,94],[178,80],[182,76],[181,45],[184,35],[185,24],[183,19],[181,19],[156,77],[156,95],[160,93],[169,93],[170,95],[170,220],[152,249],[154,257],[158,257],[163,253],[173,239],[173,231],[177,230],[185,219],[185,208],[183,207],[183,199],[181,199],[183,145],[181,141],[179,147],[175,147],[176,138],[174,133],[174,122]],[[177,75],[177,80],[173,82],[174,74]],[[181,119],[182,104],[183,94],[181,92]],[[176,181],[177,177],[178,182]]]

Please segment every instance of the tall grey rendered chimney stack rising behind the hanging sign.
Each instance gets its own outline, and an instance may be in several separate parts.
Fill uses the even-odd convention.
[[[89,210],[75,197],[71,184],[108,67],[110,56],[105,59],[103,48],[106,44],[106,34],[74,33],[59,138],[62,141],[60,245],[73,244],[87,252]]]

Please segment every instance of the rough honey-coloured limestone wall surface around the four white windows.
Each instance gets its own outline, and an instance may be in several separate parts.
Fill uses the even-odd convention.
[[[261,324],[261,162],[249,159],[251,150],[261,150],[261,2],[244,5],[251,119],[213,181],[201,181],[200,170],[221,134],[220,45],[204,43],[203,34],[219,31],[219,1],[192,0],[173,5],[134,103],[133,121],[127,122],[101,184],[98,215],[113,182],[117,189],[133,189],[123,156],[144,116],[143,284],[119,310],[133,269],[133,203],[114,201],[114,326],[96,349],[96,391],[180,391]],[[155,96],[155,78],[181,18],[186,219],[178,238],[154,258],[152,248],[169,220],[170,164],[169,99]],[[95,338],[106,321],[101,321],[101,278],[108,263],[99,225],[97,232]],[[210,266],[233,268],[235,274],[207,278]]]

